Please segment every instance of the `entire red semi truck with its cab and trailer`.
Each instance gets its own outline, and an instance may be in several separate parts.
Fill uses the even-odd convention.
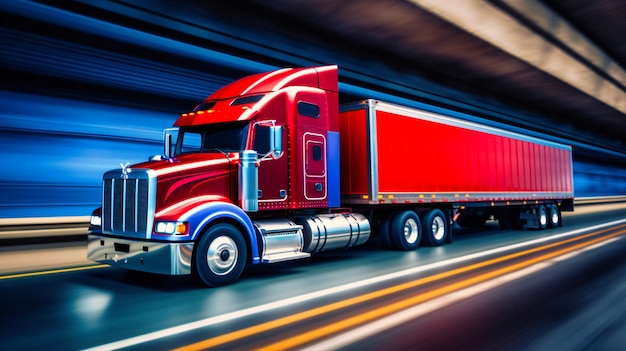
[[[164,132],[165,152],[103,176],[88,258],[233,283],[248,264],[364,244],[451,241],[496,218],[545,229],[573,210],[571,148],[364,100],[337,66],[240,79]]]

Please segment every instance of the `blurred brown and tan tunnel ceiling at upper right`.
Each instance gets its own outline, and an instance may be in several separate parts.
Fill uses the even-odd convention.
[[[568,126],[574,126],[577,133],[588,133],[597,140],[609,142],[616,150],[624,150],[626,36],[617,33],[626,33],[623,17],[626,2],[474,2],[485,3],[481,5],[483,8],[488,6],[495,14],[508,17],[509,24],[504,20],[494,22],[502,24],[493,28],[493,31],[503,34],[496,39],[489,35],[486,39],[472,32],[478,27],[476,23],[459,25],[454,21],[457,15],[454,11],[450,11],[449,17],[448,13],[442,16],[439,8],[432,5],[437,1],[257,2],[272,11],[333,33],[337,41],[388,53],[387,57],[395,60],[397,66],[421,70],[448,86],[495,97],[521,109],[540,111],[546,119],[554,122],[553,128],[567,130]],[[440,7],[452,6],[448,2],[439,3],[445,3]],[[481,6],[472,10],[483,11]],[[543,23],[534,15],[547,17],[550,23]],[[489,19],[495,17],[489,16]],[[459,15],[461,17],[463,14]],[[480,21],[480,18],[473,20]],[[535,53],[512,55],[507,52],[506,41],[523,42],[527,39],[515,34],[520,27],[531,33],[529,37],[539,40],[538,47],[545,46],[544,51],[554,48],[563,51],[562,62],[552,63],[556,68],[541,67],[537,56],[545,52],[537,51],[537,47],[531,49],[536,50]],[[529,42],[530,39],[533,38],[528,38]],[[599,54],[590,54],[590,51]],[[524,55],[530,57],[530,62]],[[597,59],[596,62],[594,59]],[[606,65],[607,60],[612,62],[610,67]],[[579,66],[588,70],[589,74],[568,81],[568,71],[576,71]],[[588,79],[594,75],[592,80]],[[612,96],[605,99],[606,95],[596,94],[595,88],[589,88],[591,85],[602,85],[596,90],[605,90],[610,86],[613,92],[609,95]],[[581,90],[587,88],[586,91]]]

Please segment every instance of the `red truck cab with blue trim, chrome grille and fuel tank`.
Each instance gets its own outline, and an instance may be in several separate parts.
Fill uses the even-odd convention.
[[[209,286],[246,264],[364,243],[340,207],[337,67],[229,84],[164,132],[164,154],[103,176],[88,258]]]

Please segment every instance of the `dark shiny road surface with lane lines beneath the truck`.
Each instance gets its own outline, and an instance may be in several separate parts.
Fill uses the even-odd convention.
[[[489,223],[413,252],[372,242],[217,289],[74,264],[5,274],[0,349],[623,350],[626,205],[579,207],[563,224]]]

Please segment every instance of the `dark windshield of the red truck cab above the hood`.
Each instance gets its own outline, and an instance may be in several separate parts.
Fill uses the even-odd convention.
[[[248,122],[181,127],[175,155],[241,151],[246,147],[247,135]]]

